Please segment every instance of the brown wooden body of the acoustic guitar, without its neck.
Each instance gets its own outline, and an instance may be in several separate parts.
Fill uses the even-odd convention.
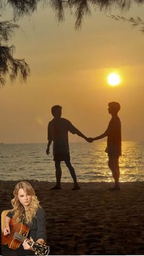
[[[18,249],[18,247],[20,247],[20,244],[22,243],[21,241],[13,237],[15,232],[27,237],[29,233],[29,227],[21,222],[15,224],[15,221],[13,221],[13,219],[10,220],[10,234],[4,236],[4,234],[2,233],[2,244],[7,244],[9,248],[13,250]]]

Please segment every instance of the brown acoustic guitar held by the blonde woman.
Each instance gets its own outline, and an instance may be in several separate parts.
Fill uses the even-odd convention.
[[[22,222],[15,224],[13,219],[10,220],[10,234],[4,236],[2,233],[2,244],[7,244],[9,248],[16,250],[20,247],[20,244],[27,239],[27,235],[29,233],[29,227],[23,224]],[[31,246],[36,255],[48,255],[49,254],[49,246],[45,244],[40,244],[37,242],[32,242],[28,239],[28,244]]]

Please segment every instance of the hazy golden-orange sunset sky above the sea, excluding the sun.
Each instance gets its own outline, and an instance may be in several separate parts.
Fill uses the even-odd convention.
[[[47,142],[51,106],[62,106],[62,117],[86,136],[103,133],[110,120],[109,101],[121,104],[122,139],[143,141],[144,130],[144,34],[141,26],[115,21],[106,15],[140,16],[144,5],[129,11],[98,9],[85,17],[82,29],[74,29],[68,13],[58,23],[51,9],[38,8],[31,18],[19,21],[9,45],[15,58],[31,68],[26,84],[16,79],[0,89],[0,142]],[[7,10],[7,19],[11,18]],[[121,83],[112,87],[107,75],[117,72]],[[76,135],[71,142],[82,141]]]

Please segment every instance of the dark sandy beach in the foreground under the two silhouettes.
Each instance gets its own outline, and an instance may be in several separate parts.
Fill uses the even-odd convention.
[[[0,181],[1,211],[18,181]],[[143,255],[144,183],[121,183],[121,191],[109,191],[110,183],[54,183],[29,181],[48,216],[50,255]]]

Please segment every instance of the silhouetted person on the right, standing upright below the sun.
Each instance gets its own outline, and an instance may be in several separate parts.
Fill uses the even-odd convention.
[[[121,122],[118,117],[118,111],[120,111],[120,104],[117,102],[110,102],[108,104],[109,114],[112,115],[112,119],[109,122],[107,130],[98,137],[88,138],[88,142],[97,141],[107,136],[107,148],[106,153],[109,156],[108,166],[112,170],[112,176],[115,181],[115,185],[112,190],[120,190],[119,178],[120,178],[120,167],[119,157],[121,155]]]

